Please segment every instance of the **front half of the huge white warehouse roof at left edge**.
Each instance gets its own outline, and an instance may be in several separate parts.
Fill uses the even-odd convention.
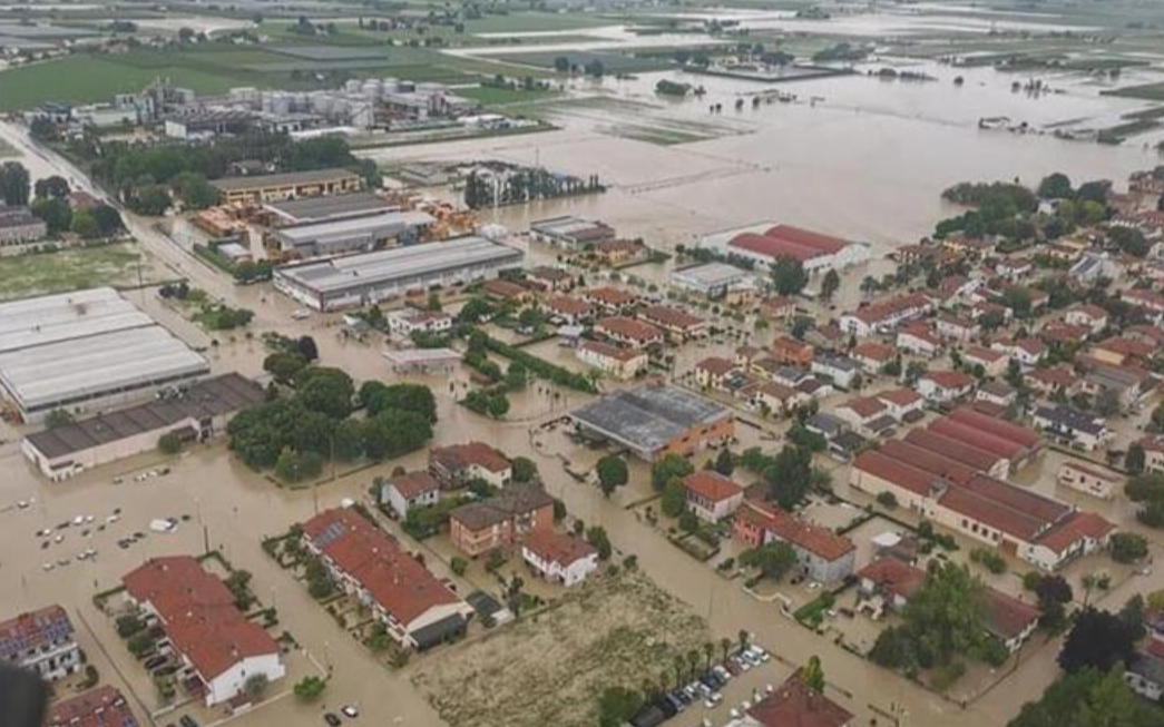
[[[0,384],[26,412],[208,370],[205,358],[157,325],[0,352]]]

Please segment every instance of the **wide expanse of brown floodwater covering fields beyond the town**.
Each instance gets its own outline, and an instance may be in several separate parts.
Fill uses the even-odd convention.
[[[1105,86],[1083,74],[1048,74],[1044,81],[1062,92],[1034,98],[1010,91],[1013,80],[1025,77],[993,69],[902,65],[900,59],[871,66],[889,63],[938,80],[882,81],[858,73],[766,85],[682,72],[577,80],[570,93],[583,104],[552,102],[542,114],[561,130],[361,154],[384,164],[499,158],[598,174],[611,187],[602,195],[485,215],[511,229],[579,214],[667,248],[708,231],[779,220],[871,242],[881,251],[916,242],[954,214],[941,193],[958,181],[1017,178],[1036,185],[1063,171],[1077,181],[1113,179],[1119,187],[1129,172],[1161,163],[1147,147],[1159,134],[1121,147],[1050,136],[1058,126],[1103,128],[1120,114],[1150,106],[1101,97]],[[965,80],[960,87],[956,76]],[[661,99],[653,88],[662,78],[703,85],[707,97]],[[733,111],[738,98],[776,90],[796,94],[797,101],[758,108],[747,102]],[[723,104],[722,114],[709,113],[715,102]],[[1025,121],[1044,133],[979,129],[979,119],[988,116]],[[670,145],[636,138],[659,128],[679,140],[684,134],[705,138]]]

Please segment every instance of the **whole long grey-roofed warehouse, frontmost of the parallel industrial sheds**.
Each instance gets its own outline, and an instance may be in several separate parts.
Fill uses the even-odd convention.
[[[405,293],[496,278],[525,255],[484,237],[457,237],[285,265],[275,287],[315,311],[368,306]]]

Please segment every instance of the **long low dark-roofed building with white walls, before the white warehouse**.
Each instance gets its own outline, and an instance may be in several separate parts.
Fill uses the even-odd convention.
[[[164,434],[205,441],[222,432],[240,409],[265,399],[265,391],[255,382],[226,373],[176,390],[157,401],[30,434],[22,449],[45,477],[62,480],[150,451]]]

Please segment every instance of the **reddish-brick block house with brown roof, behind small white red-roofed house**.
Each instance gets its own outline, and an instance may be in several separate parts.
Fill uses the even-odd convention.
[[[461,553],[477,557],[554,527],[554,498],[530,484],[513,484],[498,494],[469,503],[449,514],[449,539]]]

